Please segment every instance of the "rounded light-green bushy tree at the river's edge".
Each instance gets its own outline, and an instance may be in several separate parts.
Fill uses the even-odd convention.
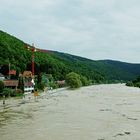
[[[82,86],[80,75],[74,72],[66,75],[66,83],[70,86],[70,88],[79,88]]]

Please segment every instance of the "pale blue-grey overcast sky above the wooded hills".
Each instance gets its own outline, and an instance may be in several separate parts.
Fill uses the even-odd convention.
[[[38,48],[140,63],[140,0],[0,0],[0,30]]]

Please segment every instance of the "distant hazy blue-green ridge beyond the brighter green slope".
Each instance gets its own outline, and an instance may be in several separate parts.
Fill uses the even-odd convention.
[[[130,80],[140,75],[140,64],[131,64],[114,60],[90,60],[87,58],[55,52],[63,60],[80,61],[91,69],[99,71],[107,79]]]

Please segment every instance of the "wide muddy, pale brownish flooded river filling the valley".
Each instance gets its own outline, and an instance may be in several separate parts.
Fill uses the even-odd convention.
[[[47,93],[0,109],[0,140],[140,140],[140,89],[123,84]]]

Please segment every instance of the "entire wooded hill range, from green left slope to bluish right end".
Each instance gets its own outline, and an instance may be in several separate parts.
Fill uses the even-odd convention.
[[[8,73],[8,63],[17,70],[17,76],[24,70],[31,70],[31,51],[27,44],[0,31],[1,73]],[[30,46],[31,47],[31,46]],[[129,64],[112,60],[94,61],[56,51],[35,52],[35,73],[52,74],[55,80],[65,79],[71,71],[86,76],[94,82],[131,80],[140,75],[140,64]]]

